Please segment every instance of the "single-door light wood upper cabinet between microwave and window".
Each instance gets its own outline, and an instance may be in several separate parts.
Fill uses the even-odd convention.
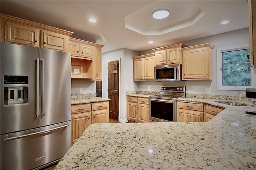
[[[212,80],[212,43],[182,48],[182,80]]]

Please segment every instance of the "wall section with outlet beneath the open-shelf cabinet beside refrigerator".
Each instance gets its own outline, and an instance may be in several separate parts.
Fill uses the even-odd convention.
[[[79,92],[79,88],[83,88],[83,92]],[[72,80],[71,94],[96,93],[96,82],[86,80]]]

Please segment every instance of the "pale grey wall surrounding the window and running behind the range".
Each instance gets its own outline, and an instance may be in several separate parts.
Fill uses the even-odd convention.
[[[212,50],[212,80],[188,80],[186,82],[154,82],[154,81],[144,81],[137,82],[139,90],[149,91],[148,86],[151,86],[150,91],[160,91],[161,85],[184,85],[186,86],[187,93],[196,94],[219,94],[219,95],[232,95],[236,96],[238,91],[231,90],[217,90],[217,49],[223,47],[230,47],[235,45],[242,45],[249,43],[249,30],[248,28],[240,29],[236,31],[231,31],[227,33],[222,33],[218,35],[212,35],[209,37],[204,37],[200,39],[194,39],[190,41],[182,42],[187,46],[213,43],[215,45]],[[255,76],[252,75],[252,76]],[[254,82],[256,84],[256,82]],[[204,88],[211,88],[211,93],[205,93]]]

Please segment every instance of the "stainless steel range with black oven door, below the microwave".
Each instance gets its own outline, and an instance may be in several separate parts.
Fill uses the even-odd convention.
[[[160,95],[150,96],[150,122],[176,122],[176,99],[185,97],[185,90],[185,86],[161,86]]]

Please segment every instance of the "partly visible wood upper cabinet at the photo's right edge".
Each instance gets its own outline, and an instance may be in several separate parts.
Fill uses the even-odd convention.
[[[256,68],[256,1],[248,0],[249,6],[249,39],[250,39],[250,61]],[[254,17],[252,17],[254,16]]]

